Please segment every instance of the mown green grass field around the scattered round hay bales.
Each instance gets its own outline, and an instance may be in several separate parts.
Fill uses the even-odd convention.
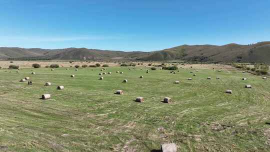
[[[269,80],[237,70],[193,69],[192,76],[192,69],[127,67],[107,67],[112,74],[99,80],[100,69],[0,69],[0,151],[153,152],[166,142],[178,151],[269,151]],[[32,85],[19,82],[25,76]],[[171,104],[161,102],[166,96]]]

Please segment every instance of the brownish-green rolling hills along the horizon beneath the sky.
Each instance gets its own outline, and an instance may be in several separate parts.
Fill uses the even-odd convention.
[[[240,45],[180,45],[159,51],[113,51],[87,48],[19,48],[0,47],[0,59],[50,60],[145,60],[198,62],[270,62],[270,41]]]

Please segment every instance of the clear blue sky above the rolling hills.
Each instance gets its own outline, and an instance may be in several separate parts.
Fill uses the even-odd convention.
[[[270,0],[0,0],[0,46],[159,50],[270,40]]]

